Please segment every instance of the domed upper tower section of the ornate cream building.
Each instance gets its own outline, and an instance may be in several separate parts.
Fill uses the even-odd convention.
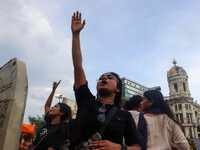
[[[174,66],[167,72],[170,99],[186,97],[192,100],[186,71],[176,65],[177,62],[175,59],[173,60],[173,64]]]

